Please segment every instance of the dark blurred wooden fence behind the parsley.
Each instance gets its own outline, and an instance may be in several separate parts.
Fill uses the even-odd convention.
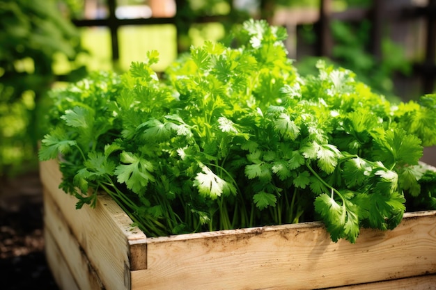
[[[406,49],[415,49],[416,42],[421,42],[419,54],[421,59],[413,64],[412,76],[404,77],[403,86],[419,86],[419,92],[435,91],[436,79],[436,0],[376,0],[370,8],[350,8],[341,13],[332,11],[332,0],[320,0],[318,9],[276,10],[274,1],[261,1],[260,15],[264,15],[274,25],[286,26],[293,35],[297,27],[303,24],[316,26],[318,42],[313,47],[316,56],[332,56],[334,40],[330,24],[334,19],[345,22],[359,22],[367,19],[371,22],[371,43],[368,51],[380,58],[382,38],[389,33],[389,38],[403,45]],[[230,1],[232,3],[232,1]],[[420,3],[420,5],[419,5]],[[232,4],[231,4],[232,5]],[[201,22],[238,21],[234,14],[226,16],[189,16],[186,14],[187,1],[176,0],[177,11],[171,17],[152,17],[141,19],[118,19],[116,17],[116,0],[107,0],[109,16],[105,19],[80,19],[73,22],[77,26],[107,26],[111,31],[111,52],[114,61],[119,58],[118,28],[124,25],[173,24],[178,35],[186,34],[189,25]],[[185,13],[184,13],[185,12]],[[423,32],[422,32],[423,31]],[[295,38],[286,43],[290,56],[298,55]],[[178,45],[178,50],[186,47]],[[415,51],[416,53],[416,51]]]

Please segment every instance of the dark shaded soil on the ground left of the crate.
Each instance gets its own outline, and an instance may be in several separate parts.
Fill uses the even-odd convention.
[[[1,289],[56,290],[45,259],[38,172],[0,179]]]

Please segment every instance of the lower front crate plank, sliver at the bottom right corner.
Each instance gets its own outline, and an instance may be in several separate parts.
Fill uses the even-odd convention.
[[[383,282],[331,288],[332,290],[432,290],[435,289],[436,275],[423,275]],[[327,289],[325,289],[327,290]]]

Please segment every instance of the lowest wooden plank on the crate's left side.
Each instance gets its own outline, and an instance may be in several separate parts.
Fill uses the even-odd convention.
[[[54,237],[47,228],[44,230],[44,239],[47,264],[49,264],[49,267],[52,269],[52,275],[59,289],[80,290],[75,278],[70,272],[70,268],[68,268],[67,261],[65,261],[61,250],[59,250],[54,241]]]

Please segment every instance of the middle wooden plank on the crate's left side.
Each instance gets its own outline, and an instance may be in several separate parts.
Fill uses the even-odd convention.
[[[47,256],[52,257],[50,268],[61,289],[104,289],[81,245],[52,197],[44,191],[44,231],[50,243],[46,245]],[[59,267],[59,264],[65,266]],[[72,281],[71,281],[72,280]],[[74,283],[72,283],[74,282]]]

